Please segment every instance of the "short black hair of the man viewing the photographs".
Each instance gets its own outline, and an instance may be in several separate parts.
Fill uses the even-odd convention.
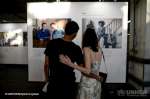
[[[77,33],[79,30],[79,25],[75,21],[68,21],[65,26],[65,34],[66,35],[72,35],[74,33]]]

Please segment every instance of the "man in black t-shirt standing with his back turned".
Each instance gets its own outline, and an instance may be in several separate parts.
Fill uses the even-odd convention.
[[[83,64],[83,55],[79,46],[72,40],[76,37],[79,26],[74,21],[69,21],[65,26],[64,37],[51,40],[45,49],[45,77],[49,81],[47,95],[50,99],[75,99],[77,84],[73,68],[59,61],[59,55],[70,57],[72,62]],[[48,69],[49,68],[49,69]],[[48,73],[49,71],[49,73]],[[49,75],[48,75],[49,74]]]

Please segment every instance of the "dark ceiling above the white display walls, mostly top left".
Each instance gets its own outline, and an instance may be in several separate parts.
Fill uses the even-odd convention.
[[[1,0],[0,23],[25,23],[27,21],[27,2],[55,2],[56,0]],[[96,2],[99,0],[60,0],[70,2]],[[114,2],[115,0],[101,0],[103,2]],[[128,0],[116,0],[127,2]]]

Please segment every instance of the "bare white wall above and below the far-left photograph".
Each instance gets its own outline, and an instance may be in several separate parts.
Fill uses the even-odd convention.
[[[27,31],[25,23],[0,24],[0,32],[8,32],[21,29]],[[28,49],[19,47],[0,47],[0,64],[28,64]]]

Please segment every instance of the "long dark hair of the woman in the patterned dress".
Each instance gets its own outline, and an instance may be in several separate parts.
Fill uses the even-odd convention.
[[[83,34],[82,48],[89,47],[94,52],[98,51],[98,38],[95,29],[87,28]]]

